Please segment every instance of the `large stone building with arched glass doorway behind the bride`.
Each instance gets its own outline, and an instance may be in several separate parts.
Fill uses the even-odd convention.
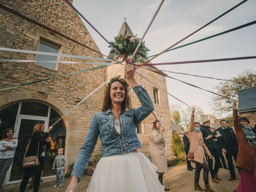
[[[82,20],[64,1],[2,0],[0,4],[0,47],[103,58],[101,54],[83,46],[100,52]],[[46,27],[58,33],[47,30]],[[0,62],[0,89],[94,67],[88,64],[60,64],[58,61],[99,61],[8,51],[0,51],[0,59],[40,61]],[[44,62],[48,60],[56,60],[56,63]],[[19,145],[15,151],[12,166],[8,170],[5,184],[17,183],[22,179],[22,156],[33,126],[38,122],[44,122],[46,131],[48,126],[100,86],[113,72],[113,67],[108,66],[0,91],[0,134],[7,128],[14,128],[14,136],[19,138]],[[150,94],[155,106],[154,112],[166,128],[166,154],[170,159],[173,155],[172,131],[168,96],[164,92],[167,91],[165,78],[144,68],[140,68],[138,72],[145,74],[161,87],[161,89],[156,88],[147,80],[136,76],[138,83]],[[104,87],[100,88],[58,122],[50,132],[58,147],[64,148],[68,165],[73,164],[76,159],[93,114],[101,111],[104,89]],[[133,107],[137,108],[139,101],[133,91],[130,94]],[[153,121],[154,116],[151,114],[137,128],[138,137],[143,145],[140,150],[146,155],[150,148],[149,134]],[[51,150],[50,143],[46,145],[44,178],[55,175],[51,170],[52,158],[56,155],[55,150]],[[101,154],[100,140],[96,144],[92,158],[98,154]]]

